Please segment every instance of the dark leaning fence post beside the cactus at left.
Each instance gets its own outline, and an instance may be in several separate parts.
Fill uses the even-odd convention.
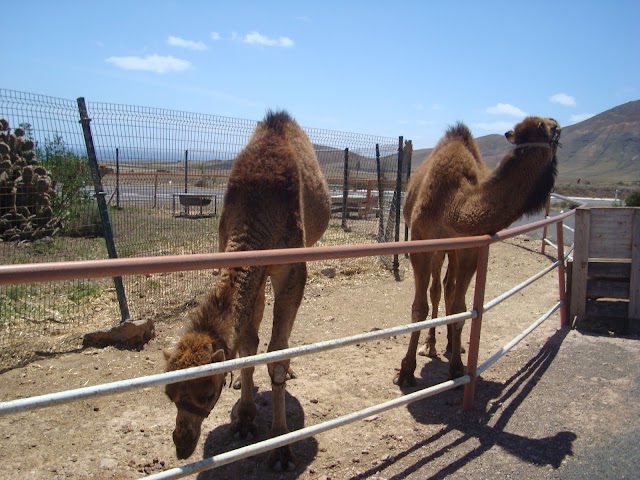
[[[109,258],[118,258],[116,251],[116,245],[113,241],[113,231],[111,230],[111,222],[109,220],[109,210],[107,209],[107,202],[105,201],[105,192],[102,189],[102,180],[100,179],[100,171],[98,169],[98,159],[96,158],[96,149],[93,144],[93,137],[91,135],[91,119],[87,114],[87,105],[84,101],[84,97],[78,98],[78,110],[80,112],[80,124],[82,125],[82,133],[84,134],[84,142],[87,147],[87,158],[89,159],[89,166],[91,167],[91,173],[93,174],[93,187],[96,192],[96,200],[98,201],[98,212],[100,213],[100,221],[102,222],[102,228],[104,229],[104,239],[107,244],[107,253]],[[113,283],[116,287],[116,295],[118,297],[118,304],[120,305],[120,315],[122,317],[121,323],[129,320],[129,306],[127,305],[127,297],[124,291],[124,284],[122,283],[122,277],[114,277]]]

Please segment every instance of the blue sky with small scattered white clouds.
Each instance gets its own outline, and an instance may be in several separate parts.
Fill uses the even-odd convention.
[[[5,16],[0,87],[433,146],[640,98],[640,2],[32,1]],[[8,21],[17,19],[20,21]]]

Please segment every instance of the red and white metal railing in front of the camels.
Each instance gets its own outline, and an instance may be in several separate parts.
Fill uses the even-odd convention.
[[[368,407],[342,417],[323,422],[317,425],[306,427],[294,432],[287,433],[269,440],[255,443],[250,446],[239,448],[233,451],[225,452],[220,455],[205,459],[200,462],[191,463],[182,467],[168,469],[164,472],[151,475],[149,479],[169,479],[180,478],[192,473],[216,468],[230,462],[246,458],[257,453],[261,453],[273,448],[287,445],[298,440],[308,438],[318,433],[324,432],[330,428],[336,428],[348,423],[355,422],[370,416],[377,412],[382,412],[390,408],[406,405],[414,401],[435,395],[445,390],[450,390],[458,385],[465,385],[464,391],[464,408],[469,410],[473,408],[475,396],[475,385],[479,375],[484,373],[490,366],[502,358],[506,352],[513,348],[518,342],[525,338],[535,328],[547,320],[554,312],[560,311],[561,326],[567,325],[567,312],[565,307],[565,271],[564,271],[564,245],[563,245],[563,220],[572,216],[573,211],[568,211],[552,218],[540,220],[520,227],[503,230],[493,236],[483,235],[477,237],[455,238],[446,240],[425,240],[410,242],[394,242],[381,245],[349,245],[336,247],[311,247],[299,249],[284,249],[271,251],[256,252],[235,252],[235,253],[218,253],[206,255],[187,255],[173,257],[147,257],[137,259],[117,259],[117,260],[95,260],[82,262],[66,262],[52,264],[32,264],[17,266],[0,266],[0,284],[31,282],[36,280],[62,280],[68,278],[82,278],[92,276],[113,276],[128,275],[139,273],[152,273],[160,271],[185,271],[203,268],[219,268],[234,267],[240,265],[273,265],[292,263],[300,261],[321,260],[328,258],[345,258],[354,256],[371,256],[382,254],[400,254],[411,252],[452,250],[460,248],[479,249],[476,284],[474,290],[473,307],[470,311],[461,314],[450,315],[447,317],[428,320],[424,322],[416,322],[400,327],[393,327],[385,330],[369,332],[365,334],[345,337],[337,340],[330,340],[316,343],[313,345],[305,345],[301,347],[289,348],[286,350],[268,352],[251,357],[244,357],[212,365],[189,368],[180,371],[167,372],[148,377],[135,378],[109,384],[85,387],[66,392],[53,393],[37,397],[13,400],[0,403],[0,415],[11,412],[43,408],[60,403],[66,403],[80,398],[89,396],[109,395],[123,392],[131,389],[138,389],[150,385],[163,385],[182,380],[209,376],[217,372],[225,372],[233,369],[241,369],[249,366],[256,366],[273,362],[277,360],[292,358],[301,355],[310,355],[312,353],[335,349],[346,345],[353,345],[364,341],[373,341],[381,338],[387,338],[400,333],[408,333],[416,330],[422,330],[437,325],[444,325],[458,322],[464,319],[471,319],[471,332],[469,342],[469,352],[467,357],[467,374],[440,383],[438,385],[419,390],[409,395],[405,395],[398,399],[394,399],[379,405]],[[512,288],[505,294],[485,303],[484,293],[486,284],[486,275],[489,259],[489,246],[493,243],[506,240],[518,236],[523,233],[530,232],[539,228],[556,224],[558,235],[558,260],[548,268],[534,275],[530,279],[522,282]],[[494,353],[487,361],[478,366],[478,352],[480,345],[480,327],[484,312],[489,311],[495,305],[515,294],[516,292],[535,282],[541,276],[549,273],[554,269],[558,269],[558,290],[559,301],[542,317],[537,319],[530,327],[515,337],[511,342]]]

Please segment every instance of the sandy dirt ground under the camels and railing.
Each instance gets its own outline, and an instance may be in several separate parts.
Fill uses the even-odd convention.
[[[492,246],[487,299],[549,265],[552,259],[538,251],[539,242],[526,238]],[[352,274],[337,268],[333,278],[319,268],[312,271],[291,346],[406,323],[413,276],[407,260],[401,268],[401,281],[383,270]],[[547,311],[557,301],[557,285],[553,271],[487,312],[480,362]],[[269,306],[261,352],[268,343]],[[78,343],[71,353],[4,371],[0,400],[162,372],[162,349],[176,342],[186,315],[158,321],[156,338],[142,351],[82,349],[79,337],[67,338],[67,344]],[[468,333],[466,325],[463,338]],[[299,378],[287,383],[290,428],[446,380],[440,327],[440,355],[418,358],[417,387],[394,386],[407,343],[408,335],[401,335],[295,358]],[[637,337],[561,330],[555,313],[485,372],[471,412],[462,409],[463,391],[452,390],[294,444],[298,465],[292,472],[269,471],[266,454],[260,454],[190,478],[639,478],[638,358]],[[255,380],[263,439],[271,422],[266,367],[256,369]],[[230,411],[238,398],[239,391],[223,392],[188,461],[176,459],[175,407],[162,387],[0,416],[0,478],[135,479],[238,448],[255,441],[230,436]]]

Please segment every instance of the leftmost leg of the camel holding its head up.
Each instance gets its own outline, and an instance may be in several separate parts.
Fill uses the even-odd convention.
[[[413,323],[422,322],[427,318],[427,315],[429,315],[427,289],[429,288],[429,278],[431,275],[432,256],[433,254],[431,252],[412,253],[410,256],[415,280],[413,305],[411,306],[411,321]],[[419,341],[420,331],[412,332],[407,353],[400,363],[400,370],[393,379],[393,383],[400,387],[409,387],[416,384],[416,379],[413,374],[416,370],[416,353]]]

